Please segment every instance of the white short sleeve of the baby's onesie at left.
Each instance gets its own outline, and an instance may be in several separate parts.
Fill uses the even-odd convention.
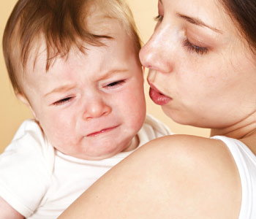
[[[0,155],[0,196],[26,218],[47,191],[52,153],[37,123],[29,120]]]

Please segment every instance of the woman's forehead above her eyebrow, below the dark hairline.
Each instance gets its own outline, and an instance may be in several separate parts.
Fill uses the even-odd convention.
[[[221,32],[224,37],[236,37],[245,42],[238,24],[230,18],[221,0],[159,0],[159,11],[171,18],[192,18]],[[187,19],[187,20],[188,20]],[[184,19],[183,19],[184,20]],[[186,20],[186,19],[185,19]]]

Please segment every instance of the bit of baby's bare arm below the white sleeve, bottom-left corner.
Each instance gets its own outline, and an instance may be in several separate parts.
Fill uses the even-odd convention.
[[[23,215],[14,210],[10,204],[0,197],[0,218],[1,219],[23,219]]]

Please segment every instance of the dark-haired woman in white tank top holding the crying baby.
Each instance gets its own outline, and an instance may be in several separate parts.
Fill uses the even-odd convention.
[[[256,1],[159,0],[140,51],[151,99],[211,128],[148,143],[61,218],[256,218]]]

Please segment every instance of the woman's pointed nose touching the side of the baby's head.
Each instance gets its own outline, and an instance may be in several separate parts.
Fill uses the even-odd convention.
[[[154,34],[140,50],[140,61],[148,69],[157,72],[169,73],[172,71],[169,42],[165,39],[163,31],[155,30]]]

